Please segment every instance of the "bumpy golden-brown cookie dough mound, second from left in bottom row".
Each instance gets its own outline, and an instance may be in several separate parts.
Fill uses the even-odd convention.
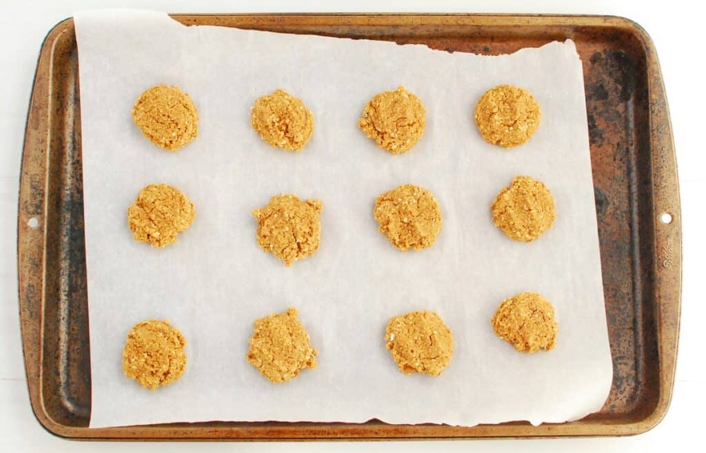
[[[304,368],[316,368],[318,352],[311,347],[309,334],[297,319],[297,309],[255,321],[249,344],[249,364],[273,383],[296,378]]]

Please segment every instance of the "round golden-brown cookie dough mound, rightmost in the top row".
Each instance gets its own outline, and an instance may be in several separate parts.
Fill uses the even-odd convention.
[[[486,142],[503,148],[516,147],[539,127],[539,104],[524,88],[498,85],[476,104],[476,125]]]

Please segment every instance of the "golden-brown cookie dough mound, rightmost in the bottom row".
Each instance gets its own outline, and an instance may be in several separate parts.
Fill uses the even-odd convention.
[[[491,324],[498,337],[520,352],[549,351],[556,345],[554,306],[536,292],[521,292],[503,300]]]

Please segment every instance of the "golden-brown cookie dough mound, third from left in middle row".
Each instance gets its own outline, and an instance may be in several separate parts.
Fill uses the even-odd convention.
[[[407,252],[431,247],[441,232],[441,211],[433,194],[424,187],[405,184],[381,194],[373,216],[390,244]]]

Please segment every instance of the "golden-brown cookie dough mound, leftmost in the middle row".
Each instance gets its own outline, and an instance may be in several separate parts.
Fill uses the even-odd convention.
[[[193,204],[181,190],[166,184],[145,186],[128,208],[128,226],[136,241],[164,247],[177,242],[196,216]]]

